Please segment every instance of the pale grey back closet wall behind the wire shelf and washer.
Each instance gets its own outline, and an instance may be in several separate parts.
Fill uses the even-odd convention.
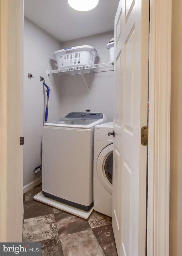
[[[79,45],[94,47],[99,56],[95,64],[110,62],[106,45],[114,37],[114,31],[108,31],[89,37],[83,37],[62,43],[62,48]],[[56,74],[54,74],[56,75]],[[65,116],[72,111],[82,112],[89,108],[91,112],[103,112],[108,121],[113,121],[114,71],[85,74],[89,91],[81,75],[60,77],[61,114]]]

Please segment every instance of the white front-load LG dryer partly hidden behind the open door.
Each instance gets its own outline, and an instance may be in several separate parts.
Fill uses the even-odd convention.
[[[112,216],[113,122],[95,126],[94,210]]]

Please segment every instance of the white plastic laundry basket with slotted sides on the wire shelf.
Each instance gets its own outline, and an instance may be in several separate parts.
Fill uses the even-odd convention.
[[[93,65],[95,57],[98,56],[96,49],[89,45],[65,48],[55,51],[53,54],[56,57],[58,69]]]

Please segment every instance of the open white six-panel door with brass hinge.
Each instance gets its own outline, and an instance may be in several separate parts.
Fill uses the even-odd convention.
[[[149,0],[121,0],[115,17],[112,225],[118,256],[144,256]]]

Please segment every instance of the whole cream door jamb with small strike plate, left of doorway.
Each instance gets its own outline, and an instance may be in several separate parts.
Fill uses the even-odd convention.
[[[22,241],[23,0],[0,0],[0,242]]]

